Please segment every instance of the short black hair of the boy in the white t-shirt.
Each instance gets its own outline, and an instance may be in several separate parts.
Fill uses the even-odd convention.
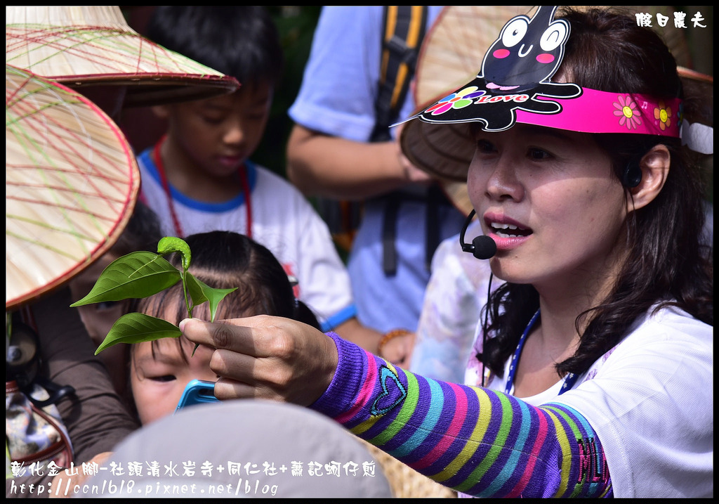
[[[283,74],[280,35],[264,6],[157,6],[147,37],[242,86],[275,86]]]

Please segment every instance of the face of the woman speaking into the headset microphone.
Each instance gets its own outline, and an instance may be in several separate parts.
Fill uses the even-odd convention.
[[[475,139],[467,184],[482,229],[497,243],[494,273],[539,292],[606,287],[626,217],[607,153],[590,135],[531,125]]]

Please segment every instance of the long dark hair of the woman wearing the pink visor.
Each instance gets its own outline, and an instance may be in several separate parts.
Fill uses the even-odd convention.
[[[562,9],[571,24],[558,75],[600,91],[683,97],[677,63],[667,45],[636,19],[607,9]],[[684,107],[693,102],[684,101]],[[690,112],[689,109],[684,111]],[[630,162],[664,144],[671,153],[667,181],[653,202],[627,216],[627,258],[608,297],[575,322],[580,345],[557,372],[582,373],[629,332],[653,305],[674,305],[713,325],[713,259],[700,236],[705,220],[702,177],[678,139],[637,134],[592,135],[613,161],[618,179]],[[631,192],[626,192],[631,198]],[[539,294],[529,284],[503,284],[490,297],[490,324],[483,356],[495,374],[517,348]],[[582,331],[581,328],[585,327]]]

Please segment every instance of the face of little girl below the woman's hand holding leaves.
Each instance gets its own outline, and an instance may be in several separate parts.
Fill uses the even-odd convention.
[[[195,345],[183,337],[179,343],[187,361],[183,360],[175,338],[155,341],[154,356],[152,342],[136,343],[132,348],[130,384],[143,425],[171,415],[192,379],[217,381],[217,375],[210,369],[212,350],[200,346],[192,356]]]

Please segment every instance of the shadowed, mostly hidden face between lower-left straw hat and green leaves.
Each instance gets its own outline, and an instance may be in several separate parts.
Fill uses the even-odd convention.
[[[91,291],[102,271],[115,259],[113,253],[105,253],[81,274],[70,281],[70,294],[73,302],[81,300]],[[129,310],[129,300],[93,303],[77,308],[80,318],[88,330],[95,348],[105,340],[115,321]],[[125,388],[125,345],[115,345],[101,351],[98,356],[105,363],[112,378],[115,390],[122,394]]]

